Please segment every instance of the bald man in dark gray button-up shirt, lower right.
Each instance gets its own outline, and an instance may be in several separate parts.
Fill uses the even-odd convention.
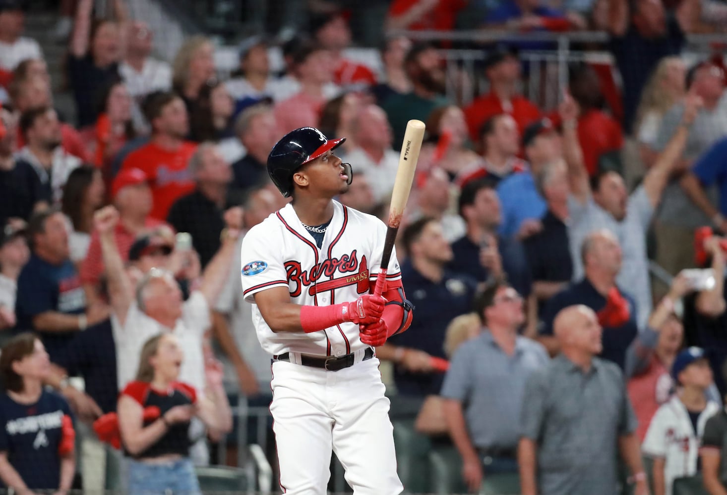
[[[601,326],[592,309],[569,306],[555,319],[561,355],[530,375],[518,464],[523,495],[616,495],[620,453],[647,495],[636,417],[616,364],[596,358]]]

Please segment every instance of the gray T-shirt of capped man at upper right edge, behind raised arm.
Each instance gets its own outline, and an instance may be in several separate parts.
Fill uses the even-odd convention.
[[[656,135],[654,143],[656,151],[661,152],[667,147],[681,123],[683,113],[683,103],[677,103],[664,114],[661,126],[659,126],[659,134]],[[690,161],[696,160],[724,136],[727,136],[727,93],[723,95],[714,110],[699,110],[689,129],[683,158]],[[664,224],[693,229],[712,223],[710,218],[707,218],[702,210],[688,198],[679,185],[678,179],[667,184],[662,197],[667,200],[662,201],[659,205],[657,218]],[[716,205],[717,188],[710,187],[707,190],[707,197],[710,198],[712,205]]]

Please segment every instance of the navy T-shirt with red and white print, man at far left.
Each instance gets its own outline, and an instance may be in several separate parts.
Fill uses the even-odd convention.
[[[55,361],[60,351],[63,351],[78,332],[43,332],[33,327],[33,318],[46,311],[84,313],[86,295],[76,266],[71,260],[56,266],[31,254],[17,279],[17,330],[38,332],[51,361]]]

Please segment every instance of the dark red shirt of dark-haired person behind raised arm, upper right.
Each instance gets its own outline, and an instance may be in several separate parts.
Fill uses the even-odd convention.
[[[561,123],[558,113],[550,118],[556,126]],[[598,171],[598,158],[606,152],[620,150],[624,145],[624,134],[611,115],[602,110],[589,110],[578,118],[578,142],[588,175],[593,176]]]

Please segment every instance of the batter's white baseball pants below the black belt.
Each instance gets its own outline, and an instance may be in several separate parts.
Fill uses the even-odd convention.
[[[337,372],[276,361],[272,387],[284,494],[325,495],[332,451],[355,495],[401,494],[376,357]]]

